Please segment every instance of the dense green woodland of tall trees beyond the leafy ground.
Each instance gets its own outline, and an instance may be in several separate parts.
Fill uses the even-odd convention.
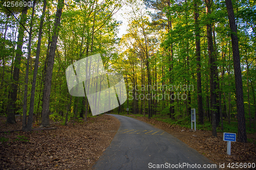
[[[47,127],[50,118],[86,121],[88,100],[69,94],[65,71],[99,53],[126,83],[129,100],[113,112],[189,119],[196,108],[197,124],[211,122],[214,136],[234,119],[238,141],[247,141],[246,127],[255,131],[255,1],[7,2],[0,17],[0,114],[7,123],[17,114],[24,131],[33,121]],[[127,33],[118,38],[121,10]]]

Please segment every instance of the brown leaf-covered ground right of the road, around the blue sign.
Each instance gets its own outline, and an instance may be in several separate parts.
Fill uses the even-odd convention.
[[[234,163],[255,163],[256,164],[256,144],[231,142],[231,155],[227,155],[227,142],[223,141],[223,133],[218,133],[218,137],[213,137],[211,131],[197,130],[195,132],[187,128],[182,128],[176,125],[170,125],[160,122],[154,118],[135,117],[143,122],[154,125],[155,127],[174,135],[181,141],[185,142],[189,147],[197,150],[199,153],[217,164],[225,163],[225,168],[230,169],[227,165]],[[247,138],[256,140],[256,134],[248,134]],[[234,168],[234,169],[254,169],[254,168]]]

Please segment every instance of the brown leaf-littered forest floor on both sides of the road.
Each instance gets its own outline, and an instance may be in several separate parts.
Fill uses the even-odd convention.
[[[213,137],[211,131],[194,132],[154,118],[129,116],[174,135],[215,162],[217,167],[223,163],[224,169],[230,169],[227,167],[229,163],[230,167],[236,167],[236,163],[256,163],[255,143],[232,142],[231,155],[227,155],[227,142],[223,141],[223,133]],[[6,117],[0,117],[0,131],[22,128],[20,121],[6,127],[5,120]],[[89,117],[86,123],[80,120],[68,126],[52,122],[51,127],[55,129],[50,130],[0,133],[0,169],[90,169],[109,146],[119,126],[115,117],[99,115]],[[33,125],[33,128],[37,129],[39,126]],[[247,138],[255,142],[256,134],[247,134]]]

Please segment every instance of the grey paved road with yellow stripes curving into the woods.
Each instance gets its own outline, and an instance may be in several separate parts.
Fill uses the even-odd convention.
[[[167,132],[132,117],[112,116],[120,128],[93,169],[216,169],[203,168],[214,165]]]

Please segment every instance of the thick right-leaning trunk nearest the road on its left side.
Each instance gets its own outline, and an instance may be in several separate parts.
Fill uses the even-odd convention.
[[[58,39],[58,32],[60,26],[60,17],[62,14],[62,7],[63,7],[64,0],[58,0],[58,6],[55,16],[55,23],[53,28],[53,36],[52,36],[52,43],[50,47],[49,53],[49,60],[46,69],[46,83],[45,83],[45,90],[44,90],[44,99],[42,104],[42,122],[41,127],[47,127],[50,125],[50,94],[51,94],[51,84],[52,84],[52,70],[54,64],[54,57],[55,57],[55,50],[57,45]]]

